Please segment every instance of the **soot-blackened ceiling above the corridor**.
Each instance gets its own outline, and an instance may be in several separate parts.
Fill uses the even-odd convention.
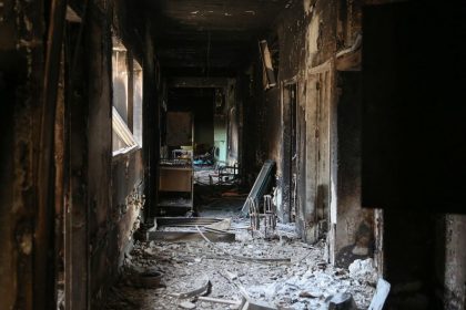
[[[146,0],[168,76],[232,76],[291,0]]]

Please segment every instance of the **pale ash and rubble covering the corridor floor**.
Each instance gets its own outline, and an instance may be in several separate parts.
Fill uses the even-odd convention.
[[[247,220],[233,218],[231,231],[236,232],[236,241],[232,244],[138,242],[105,309],[182,309],[181,304],[195,306],[195,309],[235,309],[236,306],[170,296],[202,287],[207,279],[212,283],[211,298],[241,300],[237,289],[241,286],[251,298],[277,309],[326,309],[331,296],[350,292],[359,309],[367,309],[376,280],[374,272],[367,271],[372,260],[364,262],[363,276],[348,272],[323,260],[324,241],[313,246],[303,244],[293,232],[293,226],[278,225],[277,238],[273,240],[265,240],[257,234],[251,237],[245,226]],[[232,259],[234,256],[291,258],[291,262],[243,262]],[[163,273],[163,287],[134,286],[131,281],[134,271],[131,270],[148,268]]]

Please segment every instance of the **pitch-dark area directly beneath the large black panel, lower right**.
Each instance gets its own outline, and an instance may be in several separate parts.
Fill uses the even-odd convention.
[[[444,283],[435,271],[445,265],[444,234],[436,229],[443,218],[384,210],[384,278],[392,285],[387,309],[443,309],[438,288]]]

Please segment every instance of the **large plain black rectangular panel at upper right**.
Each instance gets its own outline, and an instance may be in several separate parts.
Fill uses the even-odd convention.
[[[454,34],[465,32],[465,14],[464,2],[364,11],[365,207],[466,211],[466,108],[458,102],[466,61]]]

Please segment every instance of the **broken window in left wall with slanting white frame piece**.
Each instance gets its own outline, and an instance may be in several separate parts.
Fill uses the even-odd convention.
[[[113,155],[142,146],[142,68],[125,46],[113,40]]]

